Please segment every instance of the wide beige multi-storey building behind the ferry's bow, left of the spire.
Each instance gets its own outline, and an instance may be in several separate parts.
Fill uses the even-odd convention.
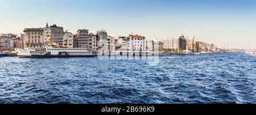
[[[44,46],[43,28],[25,28],[23,32],[24,45],[26,45],[29,48],[40,48]]]

